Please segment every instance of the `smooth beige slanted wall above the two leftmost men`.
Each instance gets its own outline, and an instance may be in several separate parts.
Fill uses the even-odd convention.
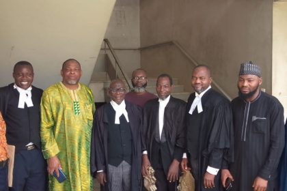
[[[12,68],[30,61],[34,85],[61,80],[61,63],[80,61],[81,81],[89,83],[115,0],[0,2],[0,86],[12,82]]]

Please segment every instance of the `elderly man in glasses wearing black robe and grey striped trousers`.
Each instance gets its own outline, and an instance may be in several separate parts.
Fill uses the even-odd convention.
[[[141,188],[141,108],[126,102],[126,86],[111,81],[111,102],[94,115],[91,171],[101,190],[138,191]]]

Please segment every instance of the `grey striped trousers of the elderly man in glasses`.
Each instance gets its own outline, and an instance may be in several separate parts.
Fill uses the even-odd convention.
[[[111,191],[130,191],[131,190],[131,165],[122,161],[119,166],[108,166],[108,185]]]

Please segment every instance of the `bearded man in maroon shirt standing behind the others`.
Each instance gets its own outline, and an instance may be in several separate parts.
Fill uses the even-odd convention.
[[[139,68],[133,71],[131,82],[133,83],[133,91],[126,93],[128,102],[137,104],[143,107],[148,100],[157,98],[156,95],[146,91],[146,85],[148,84],[148,78],[146,77],[146,71]]]

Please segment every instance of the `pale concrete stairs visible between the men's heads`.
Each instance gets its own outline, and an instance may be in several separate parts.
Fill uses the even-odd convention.
[[[94,102],[109,102],[107,88],[110,83],[111,80],[109,79],[107,72],[94,72],[89,84],[90,89],[92,89],[94,93]],[[172,91],[172,96],[187,102],[187,98],[189,98],[190,93],[184,91],[183,85],[178,85],[177,78],[173,78],[173,83],[174,89]],[[148,78],[148,86],[146,87],[146,90],[156,95],[156,78]]]

